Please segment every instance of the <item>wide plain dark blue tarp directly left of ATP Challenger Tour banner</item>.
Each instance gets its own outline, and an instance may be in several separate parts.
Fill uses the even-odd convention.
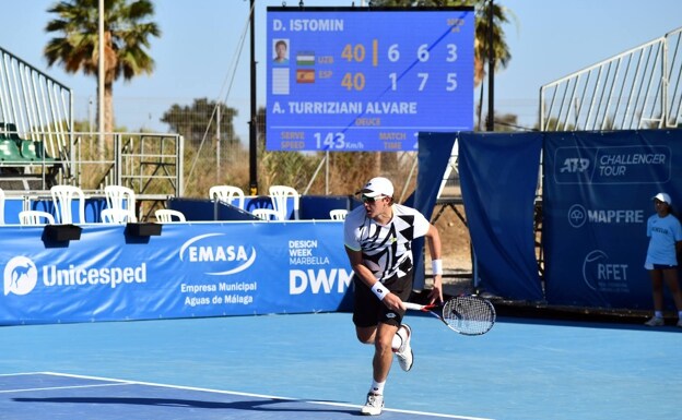
[[[541,300],[533,203],[542,135],[460,133],[459,176],[483,288]]]

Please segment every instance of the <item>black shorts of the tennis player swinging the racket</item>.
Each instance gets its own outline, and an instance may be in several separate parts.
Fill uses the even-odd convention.
[[[410,298],[413,284],[412,269],[402,277],[393,276],[384,281],[391,293],[397,295],[403,302]],[[389,311],[376,295],[356,275],[353,275],[355,299],[353,307],[353,324],[358,327],[376,326],[379,323],[400,326],[402,315],[395,311]]]

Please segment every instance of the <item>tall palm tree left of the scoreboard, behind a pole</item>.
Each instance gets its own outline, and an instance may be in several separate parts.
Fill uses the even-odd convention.
[[[149,17],[154,14],[151,0],[105,0],[104,16],[104,130],[114,131],[114,82],[151,74],[154,60],[149,56],[150,36],[161,31]],[[98,1],[62,0],[48,9],[58,17],[45,31],[56,33],[45,46],[48,65],[60,62],[68,73],[83,71],[98,75]],[[99,104],[99,101],[97,101]],[[98,109],[98,112],[103,110]]]

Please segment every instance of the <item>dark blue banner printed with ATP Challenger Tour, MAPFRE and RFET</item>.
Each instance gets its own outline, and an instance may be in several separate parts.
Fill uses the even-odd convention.
[[[545,133],[543,171],[548,301],[650,309],[646,220],[682,202],[682,132]]]

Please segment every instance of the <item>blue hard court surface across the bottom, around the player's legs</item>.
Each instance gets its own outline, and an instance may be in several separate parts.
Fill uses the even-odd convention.
[[[680,419],[682,328],[504,317],[465,337],[410,314],[381,419]],[[360,417],[372,348],[351,315],[0,327],[0,419]]]

